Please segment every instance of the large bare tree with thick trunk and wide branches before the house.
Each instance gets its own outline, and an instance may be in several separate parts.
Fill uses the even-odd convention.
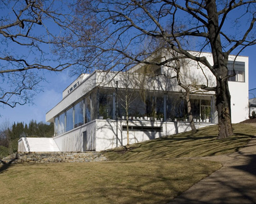
[[[121,67],[125,58],[133,64],[152,65],[186,58],[206,66],[214,74],[216,86],[202,85],[202,88],[216,92],[221,139],[233,134],[228,56],[238,55],[256,43],[255,7],[256,1],[251,0],[78,1],[76,25],[72,25],[76,30],[75,40],[71,41],[72,46],[68,38],[63,44],[80,53],[88,68]],[[164,44],[156,49],[159,41]],[[179,55],[161,62],[146,60],[162,47],[169,47]],[[211,52],[213,64],[200,55],[204,51]]]

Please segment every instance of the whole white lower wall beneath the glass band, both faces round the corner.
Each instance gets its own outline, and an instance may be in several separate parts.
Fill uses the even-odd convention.
[[[127,144],[127,132],[121,131],[125,120],[118,121],[118,146]],[[188,122],[137,121],[131,120],[129,125],[162,126],[162,132],[130,131],[130,144],[152,140],[167,135],[190,131]],[[212,123],[196,122],[196,127],[205,127]],[[60,151],[84,151],[83,132],[87,131],[87,150],[101,151],[116,147],[116,120],[97,119],[60,136],[54,137]]]

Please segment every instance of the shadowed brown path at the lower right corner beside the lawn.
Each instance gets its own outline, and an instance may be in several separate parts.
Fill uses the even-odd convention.
[[[256,137],[239,152],[202,159],[223,167],[169,203],[256,203]]]

